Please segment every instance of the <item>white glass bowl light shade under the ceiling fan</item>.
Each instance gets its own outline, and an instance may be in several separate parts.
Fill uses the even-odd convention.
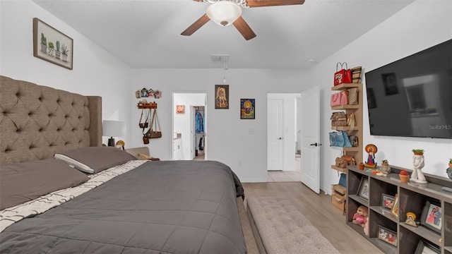
[[[213,22],[226,26],[242,15],[242,7],[232,1],[218,1],[208,6],[206,14]]]

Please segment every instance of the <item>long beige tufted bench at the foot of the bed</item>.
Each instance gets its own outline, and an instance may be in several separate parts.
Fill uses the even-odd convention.
[[[289,200],[251,197],[246,202],[266,253],[339,253]]]

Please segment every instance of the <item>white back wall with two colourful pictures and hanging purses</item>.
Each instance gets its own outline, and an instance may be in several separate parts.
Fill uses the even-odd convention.
[[[137,69],[132,74],[129,93],[143,86],[163,92],[162,98],[155,99],[163,136],[150,140],[152,156],[172,158],[172,92],[207,92],[208,159],[229,165],[244,182],[267,181],[267,93],[299,93],[312,85],[304,71],[230,68],[226,73],[230,109],[215,109],[215,84],[223,83],[222,69]],[[240,119],[241,98],[256,99],[256,119]],[[139,111],[134,111],[133,122],[138,124],[139,117]],[[132,129],[133,146],[143,145],[140,131],[138,125]]]

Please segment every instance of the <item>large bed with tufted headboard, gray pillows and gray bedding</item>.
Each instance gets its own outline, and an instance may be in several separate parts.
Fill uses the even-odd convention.
[[[102,147],[102,99],[0,76],[1,253],[255,253],[221,162]]]

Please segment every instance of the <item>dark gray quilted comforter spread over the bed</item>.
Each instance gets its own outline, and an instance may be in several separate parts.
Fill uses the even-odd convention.
[[[148,162],[9,226],[0,253],[246,253],[242,191],[220,162]]]

